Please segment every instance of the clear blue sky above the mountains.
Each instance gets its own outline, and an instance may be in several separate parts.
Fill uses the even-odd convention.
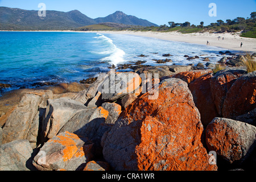
[[[38,4],[45,3],[47,10],[79,10],[90,18],[104,17],[115,11],[147,19],[156,24],[168,22],[205,25],[218,19],[247,18],[256,11],[256,0],[0,0],[0,6],[18,7],[26,10],[39,10]],[[210,17],[210,3],[217,6],[217,16]]]

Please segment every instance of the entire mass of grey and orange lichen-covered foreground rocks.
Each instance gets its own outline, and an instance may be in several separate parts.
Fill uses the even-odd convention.
[[[224,55],[220,64],[232,67],[214,73],[141,61],[80,84],[6,93],[0,170],[255,168],[256,72],[247,73],[243,59]]]

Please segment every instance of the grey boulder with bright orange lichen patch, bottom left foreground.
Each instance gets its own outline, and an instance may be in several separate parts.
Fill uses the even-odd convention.
[[[93,143],[88,138],[79,137],[66,131],[49,139],[40,148],[33,164],[40,171],[56,169],[75,171],[81,164],[92,159],[92,147]]]

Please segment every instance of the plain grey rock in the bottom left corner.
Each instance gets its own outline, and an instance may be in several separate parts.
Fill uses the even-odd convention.
[[[29,171],[33,150],[28,140],[14,140],[0,146],[0,171]]]

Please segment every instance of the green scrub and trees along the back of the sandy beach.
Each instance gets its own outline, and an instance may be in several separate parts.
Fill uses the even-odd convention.
[[[122,24],[120,26],[112,26],[112,24],[108,24],[104,27],[99,26],[98,24],[94,24],[92,26],[85,26],[75,28],[75,30],[115,30],[115,31],[122,31],[122,30],[129,30],[129,31],[158,31],[158,32],[172,32],[177,31],[181,32],[182,34],[190,34],[195,32],[212,32],[212,33],[236,33],[241,32],[242,37],[246,38],[256,38],[256,12],[250,14],[250,18],[242,18],[237,17],[233,20],[227,19],[225,22],[224,20],[217,20],[216,23],[210,23],[208,26],[204,26],[204,22],[200,22],[199,25],[191,24],[190,22],[184,23],[175,23],[175,22],[168,22],[168,25],[163,24],[160,26],[132,26],[132,27],[123,27]],[[109,27],[106,27],[109,26]],[[99,28],[100,27],[100,28]],[[111,28],[110,28],[111,27]]]

